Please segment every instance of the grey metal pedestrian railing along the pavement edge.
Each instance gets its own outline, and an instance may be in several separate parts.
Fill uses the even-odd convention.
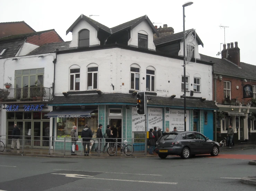
[[[19,136],[20,139],[18,141],[10,138],[11,136],[2,135],[1,141],[5,143],[5,150],[3,152],[43,155],[75,154],[78,156],[84,156],[87,154],[89,156],[139,156],[147,154],[147,151],[145,151],[145,139],[93,138],[90,142],[83,142],[81,139],[76,142],[72,142],[71,138],[66,137],[58,140],[59,137]],[[19,150],[17,150],[17,142],[19,142]],[[78,145],[78,150],[75,150],[74,153],[72,153],[72,144]],[[14,149],[12,149],[12,147]]]

